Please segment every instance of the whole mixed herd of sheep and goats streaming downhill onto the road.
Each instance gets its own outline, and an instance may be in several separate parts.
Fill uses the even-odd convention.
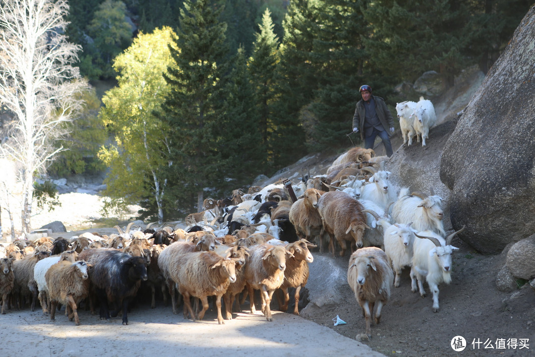
[[[150,292],[152,308],[161,289],[165,304],[171,296],[174,314],[182,300],[184,317],[193,320],[202,320],[208,297],[215,295],[217,320],[223,324],[222,297],[228,320],[234,301],[240,309],[247,296],[255,313],[259,290],[262,313],[272,321],[271,300],[279,289],[279,309],[288,309],[292,288],[293,313],[299,315],[300,290],[314,260],[310,249],[317,246],[333,256],[337,249],[340,256],[348,248],[353,252],[347,279],[366,322],[358,339],[371,338],[372,320],[379,323],[404,267],[410,267],[413,292],[424,297],[427,282],[438,312],[438,285],[451,280],[451,255],[457,249],[451,241],[460,231],[446,236],[440,196],[394,187],[387,160],[372,149],[352,148],[326,174],[304,176],[299,184],[285,180],[250,187],[247,193],[238,189],[225,200],[207,199],[204,211],[186,218],[186,230],[130,224],[116,226],[118,233],[110,236],[86,232],[70,239],[18,239],[0,247],[2,314],[25,302],[33,311],[39,298],[51,320],[63,305],[78,325],[77,307],[84,301],[93,314],[100,307],[102,320],[122,312],[128,324],[128,303],[141,287],[140,292]]]

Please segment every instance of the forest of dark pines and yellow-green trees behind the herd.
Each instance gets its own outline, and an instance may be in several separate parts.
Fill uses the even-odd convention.
[[[35,185],[109,168],[105,209],[171,221],[296,158],[347,147],[358,88],[395,103],[426,71],[484,73],[526,0],[70,0],[92,87]],[[408,84],[407,84],[408,83]],[[400,90],[400,88],[405,88]],[[409,88],[407,90],[407,88]],[[431,98],[432,99],[432,98]],[[2,115],[3,122],[10,118]],[[360,142],[353,135],[355,143]]]

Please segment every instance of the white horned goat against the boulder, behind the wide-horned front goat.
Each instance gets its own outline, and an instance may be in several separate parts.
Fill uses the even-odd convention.
[[[421,192],[409,195],[409,189],[403,187],[398,201],[392,206],[392,219],[398,223],[412,222],[412,227],[418,231],[430,230],[445,236],[441,202],[440,196],[427,196]]]

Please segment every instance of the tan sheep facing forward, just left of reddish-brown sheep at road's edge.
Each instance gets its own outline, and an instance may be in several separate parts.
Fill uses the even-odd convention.
[[[266,320],[273,321],[271,317],[271,298],[284,281],[286,270],[286,256],[293,256],[285,247],[261,244],[249,250],[249,259],[245,264],[245,277],[251,314],[256,312],[253,290],[260,290],[262,296],[262,313]]]

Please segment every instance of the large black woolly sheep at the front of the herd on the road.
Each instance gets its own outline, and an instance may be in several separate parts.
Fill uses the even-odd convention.
[[[79,259],[93,265],[89,269],[89,277],[100,301],[101,320],[116,317],[122,307],[123,325],[127,325],[128,303],[137,294],[141,280],[148,278],[145,260],[107,248],[84,250]],[[108,301],[114,303],[111,311]]]

